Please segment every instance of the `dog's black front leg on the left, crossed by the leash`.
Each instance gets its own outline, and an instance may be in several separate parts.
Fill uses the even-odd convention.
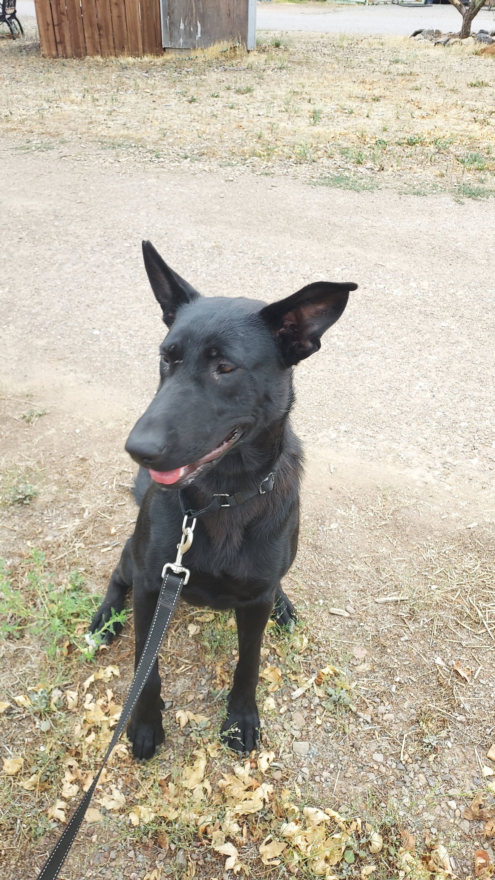
[[[135,570],[134,581],[134,627],[135,627],[135,668],[142,655],[142,649],[153,620],[159,590],[150,590],[145,578]],[[162,709],[164,701],[160,696],[162,681],[158,675],[158,661],[153,664],[142,694],[135,704],[127,725],[127,737],[133,744],[136,760],[148,760],[164,742]]]

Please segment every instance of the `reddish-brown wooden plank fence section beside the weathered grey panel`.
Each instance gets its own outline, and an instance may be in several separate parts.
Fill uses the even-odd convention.
[[[35,0],[41,54],[161,55],[160,0]]]

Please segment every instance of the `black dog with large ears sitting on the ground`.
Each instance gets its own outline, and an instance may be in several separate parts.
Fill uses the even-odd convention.
[[[271,305],[205,298],[149,242],[142,252],[170,332],[160,347],[157,395],[126,444],[140,465],[135,534],[91,630],[98,631],[112,609],[120,612],[133,587],[137,664],[162,568],[176,555],[183,520],[178,490],[188,507],[201,509],[215,495],[256,489],[244,503],[198,519],[182,593],[191,605],[236,609],[239,662],[222,735],[236,752],[251,752],[259,737],[256,686],[266,622],[272,613],[280,626],[295,620],[280,587],[299,530],[302,451],[289,421],[292,368],[320,348],[357,285],[316,282]],[[150,758],[164,740],[160,686],[155,664],[127,727],[137,759]]]

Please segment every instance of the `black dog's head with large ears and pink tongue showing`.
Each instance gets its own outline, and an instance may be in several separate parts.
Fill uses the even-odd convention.
[[[201,297],[149,241],[142,253],[169,333],[157,394],[126,449],[153,480],[180,488],[273,436],[292,405],[292,367],[320,348],[357,284],[316,282],[270,305]]]

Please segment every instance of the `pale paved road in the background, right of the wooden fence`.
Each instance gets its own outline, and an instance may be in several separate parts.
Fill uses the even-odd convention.
[[[323,4],[322,4],[323,5]],[[385,36],[410,36],[420,27],[435,27],[440,31],[456,31],[461,16],[450,4],[447,6],[347,6],[345,8],[317,9],[313,4],[300,7],[293,4],[258,3],[258,30],[313,31],[319,33],[362,33]],[[495,29],[495,13],[478,13],[473,30],[484,27]]]

